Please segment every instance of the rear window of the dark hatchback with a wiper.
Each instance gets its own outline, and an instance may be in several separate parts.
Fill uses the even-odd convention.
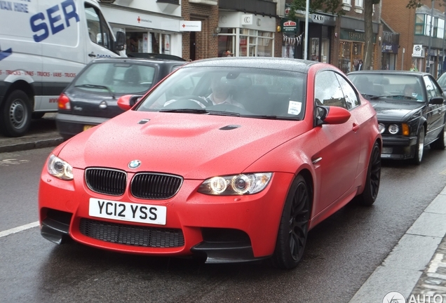
[[[154,81],[155,67],[131,62],[97,62],[74,80],[77,88],[121,95],[144,93]]]

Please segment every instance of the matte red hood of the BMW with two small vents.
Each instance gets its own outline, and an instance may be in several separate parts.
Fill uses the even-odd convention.
[[[144,121],[147,121],[144,123]],[[74,168],[172,173],[187,179],[242,173],[311,129],[304,121],[128,111],[73,137],[58,156]]]

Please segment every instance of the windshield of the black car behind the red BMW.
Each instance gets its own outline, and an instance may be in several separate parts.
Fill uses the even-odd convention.
[[[367,99],[400,99],[424,102],[418,76],[405,74],[349,74],[349,79]]]

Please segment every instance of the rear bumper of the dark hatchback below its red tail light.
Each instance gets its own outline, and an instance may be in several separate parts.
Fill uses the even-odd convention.
[[[82,133],[84,127],[97,126],[100,123],[108,121],[109,118],[99,118],[94,116],[77,116],[72,114],[61,114],[56,115],[56,128],[58,132],[65,139],[74,137],[75,135]]]

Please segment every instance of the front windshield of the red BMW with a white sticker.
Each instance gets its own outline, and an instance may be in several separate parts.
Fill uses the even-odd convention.
[[[183,67],[143,100],[138,111],[196,112],[302,119],[306,74],[240,67]]]

